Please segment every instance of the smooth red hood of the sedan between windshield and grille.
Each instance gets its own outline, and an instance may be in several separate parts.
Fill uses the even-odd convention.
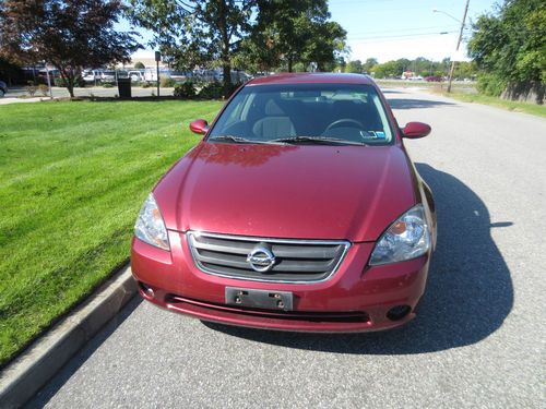
[[[168,229],[375,241],[415,204],[400,146],[202,142],[156,185]]]

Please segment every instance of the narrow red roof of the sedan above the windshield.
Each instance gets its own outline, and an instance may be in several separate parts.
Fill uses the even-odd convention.
[[[250,80],[249,85],[264,84],[368,84],[373,85],[373,80],[363,74],[342,74],[325,72],[298,72],[282,73],[270,76],[260,76]]]

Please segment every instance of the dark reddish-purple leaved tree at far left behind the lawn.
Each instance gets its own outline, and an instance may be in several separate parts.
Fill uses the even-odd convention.
[[[0,52],[22,63],[52,64],[73,97],[84,67],[128,62],[140,47],[134,33],[114,29],[122,8],[120,0],[4,0]]]

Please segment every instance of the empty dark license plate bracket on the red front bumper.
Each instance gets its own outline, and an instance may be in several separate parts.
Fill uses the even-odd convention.
[[[226,287],[226,304],[250,306],[254,309],[293,311],[294,296],[289,291]]]

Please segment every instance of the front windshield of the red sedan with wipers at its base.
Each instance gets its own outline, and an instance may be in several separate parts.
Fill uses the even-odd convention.
[[[248,85],[229,103],[207,141],[387,145],[393,141],[371,85]]]

